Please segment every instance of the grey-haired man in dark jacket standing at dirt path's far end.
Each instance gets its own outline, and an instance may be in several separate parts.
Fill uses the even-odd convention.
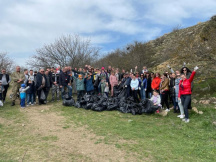
[[[45,104],[45,99],[41,99],[41,93],[45,93],[47,86],[47,80],[44,74],[44,69],[40,69],[40,71],[36,75],[36,90],[38,95],[39,105]]]

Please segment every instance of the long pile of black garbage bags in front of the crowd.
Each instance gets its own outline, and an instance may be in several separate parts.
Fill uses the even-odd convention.
[[[143,113],[154,113],[158,106],[155,106],[152,101],[145,99],[140,103],[135,103],[132,97],[125,98],[124,90],[118,93],[117,97],[107,97],[105,94],[84,95],[80,101],[75,102],[71,97],[64,97],[64,106],[75,106],[93,111],[113,111],[118,110],[122,113],[132,113],[133,115],[141,115]]]

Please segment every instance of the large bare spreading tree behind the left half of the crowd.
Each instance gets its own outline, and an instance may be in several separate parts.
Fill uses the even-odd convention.
[[[29,61],[31,67],[66,66],[79,67],[91,64],[97,59],[99,48],[91,44],[90,39],[79,35],[62,36],[54,43],[44,45],[36,50]]]

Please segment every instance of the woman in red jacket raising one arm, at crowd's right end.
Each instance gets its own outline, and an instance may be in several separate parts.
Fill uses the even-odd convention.
[[[183,119],[183,121],[185,121],[186,123],[190,121],[188,114],[188,106],[191,102],[191,82],[193,81],[197,69],[198,67],[196,66],[189,79],[187,79],[184,74],[181,74],[182,80],[180,80],[179,83],[178,99],[181,99],[181,103],[184,107],[185,119]]]

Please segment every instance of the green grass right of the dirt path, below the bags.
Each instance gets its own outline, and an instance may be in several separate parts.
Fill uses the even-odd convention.
[[[203,115],[190,112],[190,123],[183,123],[176,114],[168,116],[122,114],[118,111],[91,110],[56,105],[69,120],[88,125],[89,130],[104,142],[137,154],[139,159],[154,161],[216,161],[216,110],[198,107]],[[212,105],[210,105],[212,107]],[[56,111],[56,110],[55,110]]]

